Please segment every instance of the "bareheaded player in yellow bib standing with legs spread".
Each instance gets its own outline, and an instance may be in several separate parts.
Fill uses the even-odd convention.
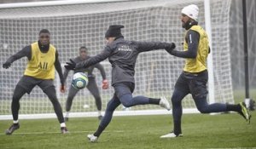
[[[36,85],[44,91],[54,106],[55,114],[61,123],[61,133],[66,134],[68,132],[64,122],[61,104],[57,99],[54,86],[56,69],[61,79],[61,92],[65,91],[61,63],[58,59],[58,52],[55,47],[49,43],[49,39],[49,31],[47,29],[41,30],[39,32],[38,42],[26,46],[24,49],[21,49],[16,54],[10,56],[9,59],[3,63],[3,68],[8,69],[15,60],[19,60],[25,56],[28,59],[24,76],[20,78],[19,83],[17,83],[15,87],[11,103],[14,121],[9,129],[6,130],[6,135],[11,135],[16,129],[20,128],[18,119],[20,99],[26,93],[30,94]]]

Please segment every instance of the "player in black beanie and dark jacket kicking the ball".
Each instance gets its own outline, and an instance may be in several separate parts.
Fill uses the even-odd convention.
[[[138,54],[154,49],[174,49],[174,43],[160,42],[136,42],[127,41],[121,34],[124,26],[109,26],[105,34],[107,46],[101,54],[91,57],[76,64],[73,60],[67,62],[67,69],[80,69],[95,65],[96,63],[108,58],[112,65],[112,86],[114,89],[113,97],[108,101],[108,106],[98,129],[93,135],[87,135],[91,142],[98,140],[102,131],[106,129],[113,117],[113,111],[120,104],[125,107],[154,104],[170,110],[170,104],[165,97],[160,99],[148,98],[142,95],[132,97],[135,88],[135,64]]]

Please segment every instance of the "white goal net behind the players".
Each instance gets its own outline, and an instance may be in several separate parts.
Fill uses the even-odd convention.
[[[38,32],[49,29],[51,43],[59,52],[62,65],[79,55],[79,47],[85,46],[90,55],[104,48],[104,34],[110,25],[124,25],[125,39],[137,41],[160,41],[177,44],[183,50],[183,33],[179,19],[181,9],[194,3],[200,9],[199,24],[205,27],[203,0],[145,0],[105,3],[74,3],[48,6],[27,6],[0,9],[1,64],[20,49],[38,40]],[[229,12],[230,0],[211,1],[212,60],[215,102],[233,103],[230,71]],[[1,6],[1,5],[0,5]],[[11,117],[11,100],[16,83],[26,68],[26,57],[16,60],[9,69],[0,68],[0,118]],[[111,82],[111,65],[101,62]],[[183,70],[184,60],[167,54],[165,50],[140,54],[136,66],[136,89],[134,96],[145,95],[158,98],[166,96],[171,103],[174,83]],[[102,77],[95,69],[96,83],[102,96],[102,111],[113,96],[113,88],[102,90]],[[70,87],[70,72],[67,91]],[[60,80],[55,73],[55,87]],[[65,112],[67,92],[58,91],[62,110]],[[191,95],[183,100],[183,112],[197,112]],[[88,89],[75,96],[70,116],[96,116],[95,100]],[[116,115],[167,113],[160,106],[119,106]],[[38,87],[20,100],[20,117],[55,117],[53,106]]]

